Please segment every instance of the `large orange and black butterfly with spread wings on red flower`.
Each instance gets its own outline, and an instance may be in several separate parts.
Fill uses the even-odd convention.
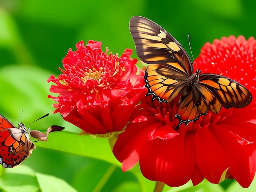
[[[147,95],[153,100],[170,102],[180,96],[177,129],[221,107],[242,108],[252,101],[252,94],[240,83],[218,74],[193,73],[193,63],[180,43],[155,22],[140,16],[130,19],[130,33],[138,57],[145,69]]]

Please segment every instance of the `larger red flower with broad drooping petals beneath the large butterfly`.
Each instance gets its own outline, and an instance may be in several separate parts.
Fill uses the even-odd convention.
[[[122,170],[138,161],[142,174],[169,186],[204,178],[220,183],[236,179],[247,188],[256,172],[256,40],[234,36],[206,43],[195,60],[204,72],[223,74],[245,85],[252,103],[244,108],[208,112],[198,121],[177,130],[177,98],[170,103],[142,100],[130,117],[126,131],[113,148]],[[195,67],[195,69],[197,68]]]

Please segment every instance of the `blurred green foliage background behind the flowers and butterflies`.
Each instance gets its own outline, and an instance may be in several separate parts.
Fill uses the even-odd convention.
[[[183,1],[86,1],[86,0],[0,0],[0,114],[18,125],[29,124],[45,131],[50,125],[65,127],[51,133],[48,142],[21,165],[0,170],[2,191],[153,191],[154,182],[141,176],[138,167],[123,173],[108,141],[79,136],[80,129],[64,122],[54,110],[50,75],[58,76],[69,48],[84,40],[103,42],[121,56],[135,50],[128,23],[132,16],[149,18],[170,32],[188,51],[190,35],[196,58],[205,42],[222,36],[256,37],[256,2],[253,0]],[[137,57],[134,52],[133,57]],[[203,182],[164,191],[255,191],[256,184],[241,189],[233,181],[220,185]]]

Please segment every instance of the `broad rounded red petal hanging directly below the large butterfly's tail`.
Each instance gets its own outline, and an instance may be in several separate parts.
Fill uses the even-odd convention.
[[[177,187],[187,183],[195,169],[194,135],[180,132],[172,139],[144,143],[139,154],[142,174],[150,180]]]

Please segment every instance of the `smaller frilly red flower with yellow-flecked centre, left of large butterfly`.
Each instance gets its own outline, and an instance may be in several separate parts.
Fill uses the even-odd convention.
[[[101,51],[101,42],[80,41],[77,51],[69,49],[63,59],[63,74],[50,76],[49,96],[58,103],[53,106],[64,120],[90,134],[120,132],[130,114],[145,95],[144,72],[137,75],[137,59],[131,59],[131,49],[119,58],[117,54]]]

